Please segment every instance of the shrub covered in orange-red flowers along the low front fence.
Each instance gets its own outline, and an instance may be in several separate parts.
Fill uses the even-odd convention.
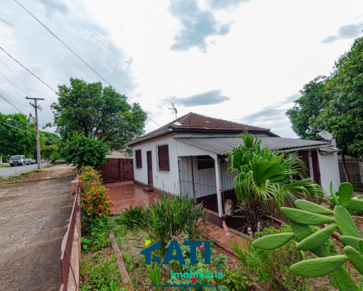
[[[99,172],[90,166],[82,167],[80,179],[83,185],[80,197],[82,218],[90,222],[107,218],[114,203],[108,195],[109,190],[102,185]]]

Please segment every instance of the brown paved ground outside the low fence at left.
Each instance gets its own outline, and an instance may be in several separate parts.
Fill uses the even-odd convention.
[[[0,290],[59,290],[71,177],[0,185]]]

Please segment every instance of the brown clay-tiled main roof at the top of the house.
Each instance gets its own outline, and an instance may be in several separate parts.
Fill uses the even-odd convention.
[[[146,135],[142,135],[142,137],[137,137],[131,142],[128,142],[127,145],[136,144],[138,142],[142,142],[144,140],[149,140],[154,137],[159,137],[161,135],[166,135],[171,132],[176,131],[190,131],[190,132],[264,132],[267,135],[271,135],[273,137],[278,137],[273,132],[270,131],[269,128],[259,128],[257,126],[245,125],[242,123],[235,123],[228,120],[222,120],[218,118],[211,118],[209,116],[203,116],[197,113],[187,113],[185,116],[181,116],[176,120],[171,121],[161,128],[154,130],[152,132],[147,133]]]

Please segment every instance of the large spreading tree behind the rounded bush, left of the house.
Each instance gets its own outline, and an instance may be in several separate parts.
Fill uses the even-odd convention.
[[[137,103],[128,104],[127,97],[112,87],[70,78],[70,87],[59,85],[58,89],[58,103],[51,109],[56,132],[63,141],[83,132],[85,137],[95,137],[120,150],[143,134],[147,113]]]

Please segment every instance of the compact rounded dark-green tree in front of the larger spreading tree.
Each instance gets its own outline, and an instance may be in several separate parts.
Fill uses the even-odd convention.
[[[78,168],[92,166],[99,168],[106,163],[106,155],[109,153],[109,145],[94,137],[86,137],[83,134],[75,134],[65,142],[61,149],[61,156],[67,163],[73,163]]]

